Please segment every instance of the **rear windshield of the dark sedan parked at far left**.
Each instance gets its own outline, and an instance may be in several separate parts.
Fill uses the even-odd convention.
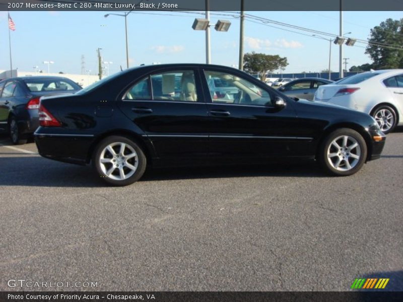
[[[29,79],[24,80],[29,91],[74,91],[81,87],[69,79]]]

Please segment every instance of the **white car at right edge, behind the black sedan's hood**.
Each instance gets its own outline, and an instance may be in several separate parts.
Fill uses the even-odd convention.
[[[368,113],[389,133],[403,125],[403,69],[371,70],[320,86],[313,100]]]

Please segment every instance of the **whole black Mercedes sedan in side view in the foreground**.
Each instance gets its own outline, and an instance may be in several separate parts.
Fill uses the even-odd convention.
[[[211,91],[211,80],[226,93]],[[112,185],[146,167],[318,161],[347,176],[380,157],[385,135],[368,114],[289,98],[240,70],[206,64],[139,66],[78,93],[43,97],[35,142],[43,157],[92,163]]]

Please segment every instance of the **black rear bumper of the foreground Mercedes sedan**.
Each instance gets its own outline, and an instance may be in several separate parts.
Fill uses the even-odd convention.
[[[38,152],[45,158],[79,165],[89,163],[93,135],[49,133],[45,127],[39,127],[34,136]]]

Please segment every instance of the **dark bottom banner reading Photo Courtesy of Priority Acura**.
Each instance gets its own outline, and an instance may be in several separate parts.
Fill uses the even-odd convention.
[[[263,301],[402,301],[403,292],[387,291],[298,291],[298,292],[173,292],[173,291],[3,291],[0,301],[7,302],[263,302]]]

